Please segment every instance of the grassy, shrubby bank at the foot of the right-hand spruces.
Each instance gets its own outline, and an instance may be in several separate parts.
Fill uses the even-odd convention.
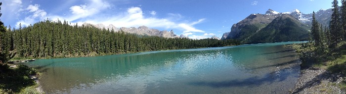
[[[332,83],[346,90],[346,44],[340,43],[333,50],[328,48],[316,47],[312,43],[295,44],[293,48],[299,53],[302,61],[302,69],[321,68],[339,75],[344,80],[342,83]]]

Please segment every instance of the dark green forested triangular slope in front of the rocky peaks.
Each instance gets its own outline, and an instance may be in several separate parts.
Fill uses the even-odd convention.
[[[283,41],[303,41],[308,38],[308,26],[289,14],[274,19],[260,31],[254,33],[243,43],[267,43]]]

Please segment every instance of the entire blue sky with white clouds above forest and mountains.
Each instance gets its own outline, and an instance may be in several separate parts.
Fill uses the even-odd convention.
[[[229,32],[233,24],[268,9],[302,13],[332,8],[333,0],[0,0],[5,26],[19,28],[46,19],[110,24],[117,28],[147,26],[193,39]],[[339,0],[339,5],[340,5]]]

